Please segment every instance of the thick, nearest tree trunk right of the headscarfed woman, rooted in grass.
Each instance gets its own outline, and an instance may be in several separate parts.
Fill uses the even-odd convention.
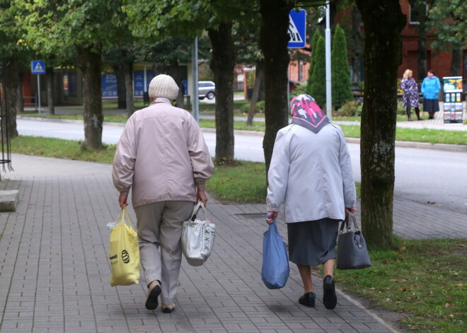
[[[367,243],[389,247],[393,239],[397,71],[401,56],[400,33],[406,18],[398,0],[355,2],[365,30],[360,141],[362,229]]]

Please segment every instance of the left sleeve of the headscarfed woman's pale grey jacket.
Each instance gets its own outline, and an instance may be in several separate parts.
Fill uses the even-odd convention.
[[[290,167],[290,135],[277,132],[274,150],[267,173],[267,211],[279,211],[284,202]]]

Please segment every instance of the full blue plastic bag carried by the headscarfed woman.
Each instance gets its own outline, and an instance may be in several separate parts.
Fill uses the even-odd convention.
[[[279,289],[285,286],[289,279],[289,257],[287,247],[279,235],[276,222],[270,224],[263,237],[263,268],[261,278],[270,289]]]

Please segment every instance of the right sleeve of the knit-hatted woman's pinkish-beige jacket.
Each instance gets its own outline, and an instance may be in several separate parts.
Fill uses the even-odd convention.
[[[204,142],[200,126],[191,115],[188,117],[188,154],[190,155],[196,187],[203,188],[206,180],[212,176],[214,163],[212,163],[206,142]]]

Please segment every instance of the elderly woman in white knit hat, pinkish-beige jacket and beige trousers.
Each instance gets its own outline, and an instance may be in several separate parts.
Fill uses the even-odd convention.
[[[113,160],[120,207],[129,189],[137,216],[141,264],[148,284],[146,308],[175,308],[182,261],[183,221],[196,201],[207,202],[204,183],[214,164],[200,127],[189,112],[173,107],[178,86],[168,75],[149,84],[151,105],[129,117]],[[160,252],[159,252],[160,250]]]

